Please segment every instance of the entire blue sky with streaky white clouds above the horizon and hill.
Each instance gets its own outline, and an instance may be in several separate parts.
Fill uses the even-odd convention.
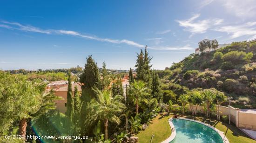
[[[255,0],[2,0],[0,69],[134,68],[148,45],[155,69],[197,48],[256,38]]]

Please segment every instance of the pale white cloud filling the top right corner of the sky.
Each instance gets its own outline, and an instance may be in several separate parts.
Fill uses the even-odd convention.
[[[256,0],[220,0],[226,10],[239,18],[253,18],[256,15]]]

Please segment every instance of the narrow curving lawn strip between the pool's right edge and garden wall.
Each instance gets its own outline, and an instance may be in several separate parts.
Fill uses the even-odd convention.
[[[194,117],[194,116],[184,116],[183,118],[190,118],[194,120],[201,121],[206,124],[210,124],[211,126],[217,128],[220,131],[223,131],[228,138],[230,143],[256,143],[255,140],[248,137],[241,130],[239,130],[235,124],[228,124],[218,121],[214,118],[205,118],[205,117]]]

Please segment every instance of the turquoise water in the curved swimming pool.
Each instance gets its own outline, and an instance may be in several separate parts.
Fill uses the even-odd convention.
[[[184,119],[172,122],[176,137],[171,143],[223,143],[221,136],[206,125]]]

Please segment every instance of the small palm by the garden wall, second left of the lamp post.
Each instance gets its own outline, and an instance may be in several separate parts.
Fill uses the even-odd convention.
[[[212,90],[206,89],[202,92],[202,100],[206,105],[206,117],[210,115],[210,105],[213,102],[214,92]]]

